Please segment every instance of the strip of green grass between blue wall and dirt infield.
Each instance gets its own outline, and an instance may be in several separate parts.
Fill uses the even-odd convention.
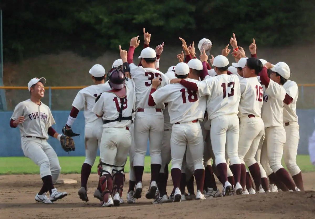
[[[80,173],[84,157],[59,157],[62,174]],[[92,173],[96,173],[99,157],[96,158],[92,168]],[[150,156],[145,158],[145,173],[150,173]],[[296,158],[302,172],[315,171],[308,155],[298,155]],[[283,163],[284,164],[284,163]],[[169,169],[171,165],[169,165]],[[125,172],[129,172],[129,158],[125,166]],[[39,174],[39,167],[26,157],[1,157],[0,158],[0,175],[4,174]]]

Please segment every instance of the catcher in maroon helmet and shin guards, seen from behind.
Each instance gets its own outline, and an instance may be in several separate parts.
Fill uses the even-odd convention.
[[[121,204],[125,181],[123,170],[131,146],[129,126],[135,106],[135,85],[129,74],[127,51],[122,50],[120,46],[119,50],[123,70],[114,68],[109,72],[108,82],[112,89],[103,92],[92,108],[96,116],[103,120],[98,166],[103,207]],[[125,78],[126,76],[129,79]]]

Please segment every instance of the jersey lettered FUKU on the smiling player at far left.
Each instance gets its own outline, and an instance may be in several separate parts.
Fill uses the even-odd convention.
[[[56,124],[49,107],[42,102],[41,105],[37,105],[31,99],[16,105],[11,119],[17,120],[19,116],[25,117],[25,121],[18,125],[21,137],[33,136],[48,139],[49,127]]]

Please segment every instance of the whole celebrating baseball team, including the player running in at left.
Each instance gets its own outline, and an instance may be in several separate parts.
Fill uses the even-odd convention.
[[[127,203],[140,199],[148,140],[151,182],[145,197],[153,204],[304,191],[295,161],[300,138],[295,112],[298,86],[289,80],[286,63],[272,65],[258,59],[254,39],[249,46],[251,57],[247,58],[233,33],[221,55],[211,55],[210,59],[209,39],[198,43],[198,59],[194,42],[187,46],[179,38],[183,49],[177,55],[179,63],[163,73],[159,61],[164,43],[152,49],[151,34],[144,28],[143,33],[144,49],[138,65],[133,57],[139,36],[130,40],[128,52],[119,46],[121,59],[113,62],[107,74],[103,66],[92,66],[89,73],[94,84],[80,90],[72,103],[62,132],[68,137],[78,135],[72,126],[83,110],[85,161],[80,199],[89,201],[87,181],[98,148],[99,182],[94,197],[100,199],[101,206],[123,203],[128,155]],[[231,66],[226,58],[230,44],[235,58]],[[64,135],[51,127],[54,118],[40,101],[45,83],[45,78],[29,82],[31,98],[15,107],[10,126],[20,128],[25,156],[40,166],[43,187],[35,200],[51,204],[67,193],[54,188],[61,168],[47,139],[50,135],[62,142]],[[282,157],[289,172],[281,164]],[[168,194],[170,163],[174,188]]]

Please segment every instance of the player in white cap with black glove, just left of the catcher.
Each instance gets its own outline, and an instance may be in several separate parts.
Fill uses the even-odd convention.
[[[115,63],[114,63],[115,64]],[[114,65],[113,64],[113,65]],[[120,63],[118,63],[120,64]],[[109,84],[105,84],[105,69],[103,66],[96,64],[89,70],[93,85],[80,90],[72,102],[72,110],[63,128],[63,133],[67,136],[76,136],[72,132],[72,125],[77,118],[79,111],[83,110],[85,118],[84,127],[84,143],[85,143],[85,161],[81,168],[81,188],[78,191],[80,199],[88,202],[87,182],[91,173],[92,166],[95,162],[97,149],[100,147],[100,140],[102,137],[102,119],[96,117],[92,112],[95,104],[95,98],[101,93],[110,90]],[[101,193],[98,189],[95,190],[94,196],[102,199]]]

